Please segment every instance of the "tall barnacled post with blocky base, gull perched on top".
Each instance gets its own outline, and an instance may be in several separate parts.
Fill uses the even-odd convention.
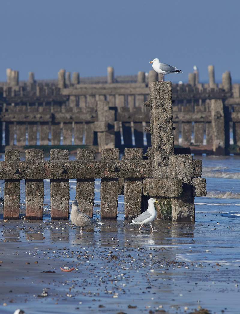
[[[148,156],[153,179],[143,180],[143,194],[159,200],[159,219],[194,221],[194,196],[206,195],[206,180],[197,178],[201,176],[201,160],[193,161],[190,154],[174,155],[171,82],[151,83],[150,100],[145,105],[151,112]]]

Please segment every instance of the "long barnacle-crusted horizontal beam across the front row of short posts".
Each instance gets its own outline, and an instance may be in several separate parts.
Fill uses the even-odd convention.
[[[149,178],[149,160],[0,161],[0,179]]]

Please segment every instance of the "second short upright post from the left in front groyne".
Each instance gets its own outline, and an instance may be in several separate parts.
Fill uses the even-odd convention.
[[[26,160],[44,160],[44,150],[27,149]],[[25,200],[27,219],[43,219],[44,183],[43,179],[25,180]]]

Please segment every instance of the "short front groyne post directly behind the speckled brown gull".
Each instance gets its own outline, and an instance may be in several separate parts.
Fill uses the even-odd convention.
[[[95,160],[95,149],[78,149],[77,160]],[[77,179],[76,200],[81,212],[93,215],[94,179]]]

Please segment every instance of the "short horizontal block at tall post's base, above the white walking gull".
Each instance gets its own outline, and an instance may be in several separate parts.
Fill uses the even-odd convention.
[[[143,194],[150,196],[178,197],[182,194],[180,179],[144,179]]]

